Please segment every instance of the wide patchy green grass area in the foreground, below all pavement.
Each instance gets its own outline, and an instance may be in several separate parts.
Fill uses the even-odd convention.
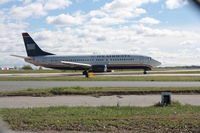
[[[200,106],[48,107],[0,109],[11,129],[21,131],[199,132]]]

